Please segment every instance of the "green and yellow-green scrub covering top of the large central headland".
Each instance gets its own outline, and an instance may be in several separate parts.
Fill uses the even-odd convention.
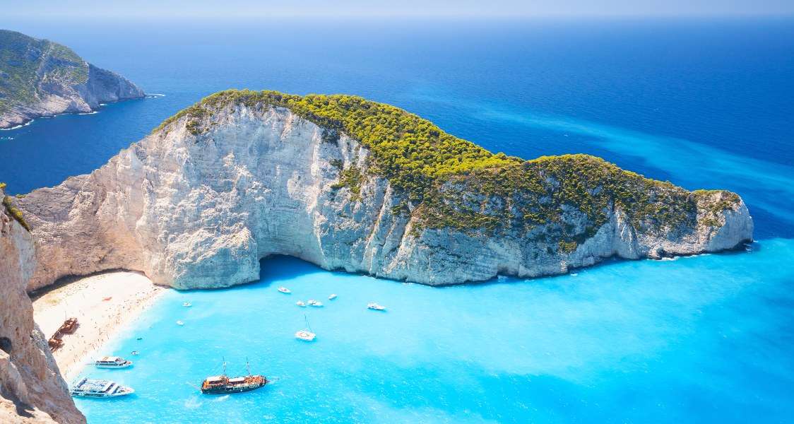
[[[168,118],[155,131],[187,117],[187,129],[201,134],[211,128],[214,111],[230,104],[285,107],[326,129],[323,141],[334,141],[337,132],[360,141],[372,152],[368,166],[342,169],[334,164],[340,168],[335,187],[349,187],[353,199],[359,199],[364,177],[384,177],[410,202],[418,227],[474,232],[538,228],[534,237],[556,240],[557,249],[572,252],[607,222],[613,208],[622,210],[637,229],[674,230],[696,225],[697,202],[703,199],[595,156],[522,160],[494,154],[405,110],[350,95],[221,91]],[[724,204],[714,207],[733,207],[738,196],[723,199]],[[393,209],[407,210],[402,205]]]

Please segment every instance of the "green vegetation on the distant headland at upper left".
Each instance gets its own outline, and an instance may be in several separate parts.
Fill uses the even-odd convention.
[[[0,29],[0,114],[33,102],[40,84],[74,85],[88,79],[88,65],[61,44]]]

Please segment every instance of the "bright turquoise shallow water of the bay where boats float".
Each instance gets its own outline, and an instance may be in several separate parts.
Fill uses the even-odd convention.
[[[792,256],[770,240],[444,288],[264,260],[258,283],[166,295],[106,345],[139,351],[133,368],[85,371],[136,393],[77,404],[89,422],[784,422],[794,267],[777,258]],[[313,343],[293,336],[304,314]],[[201,395],[224,357],[275,381]]]

